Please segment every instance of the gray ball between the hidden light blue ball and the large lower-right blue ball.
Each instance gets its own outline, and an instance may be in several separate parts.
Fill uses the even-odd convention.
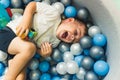
[[[82,59],[81,64],[83,68],[90,70],[94,65],[94,60],[89,56],[85,56]]]

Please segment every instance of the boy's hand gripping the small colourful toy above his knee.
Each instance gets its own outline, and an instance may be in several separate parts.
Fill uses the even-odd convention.
[[[16,29],[16,35],[24,39],[29,32],[29,28],[25,23],[20,24]]]

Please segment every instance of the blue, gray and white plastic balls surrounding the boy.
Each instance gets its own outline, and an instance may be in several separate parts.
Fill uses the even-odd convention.
[[[10,1],[1,0],[0,4],[5,9],[9,8],[7,12],[10,18],[15,19],[22,15],[29,2],[41,0]],[[110,69],[105,54],[107,38],[92,21],[89,10],[84,6],[76,9],[72,0],[42,1],[58,9],[62,19],[74,17],[85,22],[87,34],[78,43],[61,42],[50,57],[43,58],[36,53],[28,64],[27,80],[103,80]],[[9,55],[0,51],[0,76],[7,71],[8,59]]]

